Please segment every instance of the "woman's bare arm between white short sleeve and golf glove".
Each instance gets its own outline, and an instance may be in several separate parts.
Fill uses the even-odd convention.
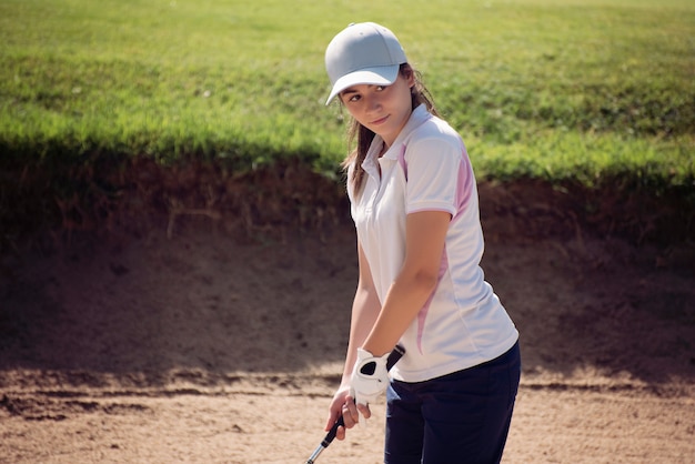
[[[405,223],[405,261],[362,347],[375,356],[393,350],[436,288],[451,214],[422,211]]]

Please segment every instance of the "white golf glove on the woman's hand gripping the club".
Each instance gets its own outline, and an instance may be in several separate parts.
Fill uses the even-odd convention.
[[[386,391],[389,387],[387,357],[389,353],[376,357],[366,350],[357,349],[357,361],[350,380],[350,390],[355,403],[367,405]]]

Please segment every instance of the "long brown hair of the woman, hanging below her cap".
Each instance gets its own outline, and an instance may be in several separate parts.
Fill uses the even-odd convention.
[[[420,73],[420,71],[415,70],[409,63],[403,63],[401,64],[401,69],[399,70],[399,72],[405,78],[407,78],[411,72],[413,73],[415,84],[411,89],[412,109],[414,110],[415,108],[424,103],[427,108],[427,111],[430,111],[434,115],[439,115],[436,109],[434,108],[432,94],[422,83],[422,74]],[[360,124],[354,118],[352,118],[352,121],[348,127],[348,144],[349,147],[355,144],[355,148],[350,152],[350,154],[348,154],[345,160],[343,160],[341,167],[345,171],[348,171],[348,168],[354,165],[351,181],[354,184],[355,192],[359,192],[362,188],[362,179],[364,178],[364,169],[362,168],[362,162],[366,158],[366,152],[369,151],[370,145],[374,140],[374,132],[366,129],[364,125]]]

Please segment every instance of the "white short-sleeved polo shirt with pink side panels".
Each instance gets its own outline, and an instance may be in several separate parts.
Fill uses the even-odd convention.
[[[421,382],[504,354],[518,332],[480,266],[484,242],[477,186],[461,137],[421,104],[379,158],[382,147],[376,135],[362,164],[366,175],[360,194],[348,184],[357,238],[382,303],[405,258],[406,214],[452,215],[436,290],[401,337],[406,354],[392,376]]]

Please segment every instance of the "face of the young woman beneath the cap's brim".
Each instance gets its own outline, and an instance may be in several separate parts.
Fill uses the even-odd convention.
[[[391,85],[359,84],[340,93],[340,98],[357,122],[384,139],[386,147],[395,141],[412,112],[412,72],[399,73]]]

